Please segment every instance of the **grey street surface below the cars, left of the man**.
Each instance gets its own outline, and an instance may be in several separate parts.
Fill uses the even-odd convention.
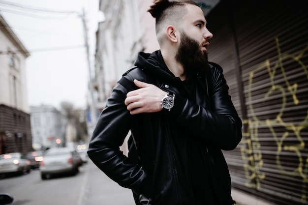
[[[109,179],[91,161],[76,176],[42,180],[36,169],[2,178],[0,193],[13,196],[12,205],[134,205],[131,190]]]

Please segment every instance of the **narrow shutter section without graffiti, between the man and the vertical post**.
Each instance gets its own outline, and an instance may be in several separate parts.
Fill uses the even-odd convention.
[[[237,52],[234,50],[234,36],[230,29],[230,11],[228,6],[220,2],[209,15],[206,16],[207,27],[213,33],[210,39],[209,60],[218,63],[223,68],[223,74],[229,86],[229,94],[232,102],[239,114],[246,118],[246,109],[243,97],[243,86],[241,84],[241,74],[238,69]],[[244,131],[244,129],[243,129]],[[245,186],[245,170],[243,167],[243,159],[241,155],[241,147],[246,145],[240,143],[237,148],[232,151],[223,151],[227,161],[232,184],[235,182],[241,186]]]

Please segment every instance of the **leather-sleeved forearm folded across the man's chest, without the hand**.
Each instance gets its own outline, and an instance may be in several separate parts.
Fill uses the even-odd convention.
[[[177,122],[191,136],[205,138],[221,149],[234,149],[242,138],[241,119],[232,112],[219,114],[187,102]]]

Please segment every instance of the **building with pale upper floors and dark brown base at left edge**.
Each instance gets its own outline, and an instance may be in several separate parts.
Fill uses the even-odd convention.
[[[0,15],[0,154],[31,151],[27,49]]]

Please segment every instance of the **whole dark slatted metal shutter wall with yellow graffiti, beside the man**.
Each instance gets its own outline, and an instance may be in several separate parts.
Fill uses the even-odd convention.
[[[233,187],[277,205],[308,204],[305,4],[300,0],[233,0],[232,5],[222,1],[207,16],[214,33],[212,47],[216,46],[209,49],[210,60],[233,63],[228,66],[232,71],[225,70],[225,77],[244,122],[241,144],[225,152]],[[238,54],[229,42],[233,40],[230,35],[236,39]],[[228,59],[219,53],[223,50],[237,55]],[[226,75],[235,70],[240,80]],[[236,85],[242,85],[243,99],[231,88]]]

